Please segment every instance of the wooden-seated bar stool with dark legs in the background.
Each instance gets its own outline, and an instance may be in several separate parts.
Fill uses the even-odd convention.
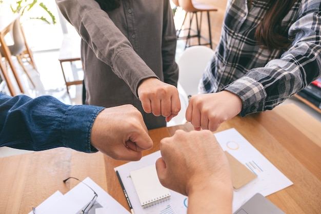
[[[193,1],[193,0],[172,0],[172,2],[179,7],[182,7],[184,11],[186,11],[184,21],[182,23],[182,26],[176,31],[177,39],[183,39],[186,40],[185,48],[192,46],[189,45],[190,38],[197,37],[198,39],[198,45],[209,45],[210,48],[212,48],[212,34],[211,34],[211,23],[210,23],[210,12],[211,11],[217,11],[216,8],[214,8],[211,5],[204,4],[202,2]],[[200,34],[201,26],[202,26],[202,14],[203,12],[207,13],[207,22],[208,22],[208,30],[209,30],[209,37],[205,37]],[[200,13],[200,20],[198,22],[197,13]],[[190,22],[189,22],[189,28],[183,29],[186,16],[189,14],[190,16]],[[195,18],[196,21],[196,30],[191,28],[193,18]],[[188,34],[186,36],[180,36],[180,33],[182,30],[187,30]],[[191,32],[195,32],[195,34],[191,34]],[[200,40],[203,39],[206,41],[206,43],[200,43]]]

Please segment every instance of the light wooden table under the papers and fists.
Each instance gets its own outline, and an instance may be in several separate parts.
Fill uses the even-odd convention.
[[[321,123],[294,104],[255,113],[223,123],[218,131],[235,128],[265,155],[294,184],[267,198],[286,213],[320,213],[321,210]],[[175,130],[192,130],[190,124],[150,130],[157,151],[159,141]],[[114,161],[102,153],[85,154],[66,148],[32,152],[0,159],[0,210],[28,213],[56,190],[66,193],[77,181],[74,176],[92,178],[128,209],[113,168],[126,162]],[[137,213],[139,214],[139,213]]]

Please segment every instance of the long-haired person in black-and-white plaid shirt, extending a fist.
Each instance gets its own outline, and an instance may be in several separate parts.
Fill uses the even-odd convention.
[[[215,54],[186,119],[216,130],[271,110],[321,76],[321,0],[228,0]]]

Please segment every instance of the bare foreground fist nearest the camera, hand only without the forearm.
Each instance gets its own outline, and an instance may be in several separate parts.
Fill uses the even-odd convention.
[[[162,158],[156,169],[160,183],[186,196],[196,186],[219,181],[230,184],[228,161],[208,130],[177,130],[173,137],[160,141]]]

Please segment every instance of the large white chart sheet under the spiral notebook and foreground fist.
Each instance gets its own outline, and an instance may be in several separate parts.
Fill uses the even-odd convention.
[[[238,191],[234,191],[233,212],[254,196],[255,193],[259,192],[263,194],[263,196],[268,196],[293,184],[234,128],[215,133],[214,135],[223,150],[227,150],[234,158],[257,174],[256,179]],[[156,151],[146,155],[140,161],[129,162],[118,166],[115,170],[118,171],[122,178],[135,213],[185,214],[187,213],[187,197],[172,190],[170,190],[172,194],[171,199],[168,201],[147,208],[142,208],[139,204],[134,185],[130,178],[130,171],[155,164],[155,161],[159,157],[160,151]]]

